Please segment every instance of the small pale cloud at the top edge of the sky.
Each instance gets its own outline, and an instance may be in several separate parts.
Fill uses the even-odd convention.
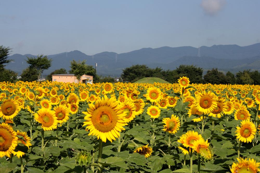
[[[202,0],[200,6],[202,6],[205,14],[214,16],[223,8],[225,4],[225,0]]]

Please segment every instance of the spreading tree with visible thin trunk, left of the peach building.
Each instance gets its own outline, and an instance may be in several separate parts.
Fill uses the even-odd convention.
[[[51,66],[52,59],[48,59],[47,56],[37,55],[37,57],[27,57],[26,62],[30,64],[30,69],[37,71],[38,81],[40,81],[43,70],[47,70]]]

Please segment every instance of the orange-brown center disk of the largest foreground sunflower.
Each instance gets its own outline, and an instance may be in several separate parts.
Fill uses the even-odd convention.
[[[100,132],[109,132],[114,129],[117,123],[117,114],[109,106],[101,106],[93,111],[92,123]]]

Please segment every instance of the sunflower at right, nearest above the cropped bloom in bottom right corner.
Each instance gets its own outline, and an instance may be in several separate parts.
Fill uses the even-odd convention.
[[[236,138],[242,142],[252,142],[256,134],[256,126],[249,120],[243,120],[241,126],[237,127]]]

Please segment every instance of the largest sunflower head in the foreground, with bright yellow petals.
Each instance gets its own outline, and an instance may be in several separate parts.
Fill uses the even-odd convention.
[[[95,104],[88,104],[88,107],[88,111],[83,112],[86,115],[83,126],[87,126],[88,135],[97,136],[103,142],[106,142],[107,139],[112,142],[120,136],[120,131],[125,130],[123,126],[127,125],[124,120],[126,113],[124,110],[120,110],[122,106],[115,97],[98,98]]]

